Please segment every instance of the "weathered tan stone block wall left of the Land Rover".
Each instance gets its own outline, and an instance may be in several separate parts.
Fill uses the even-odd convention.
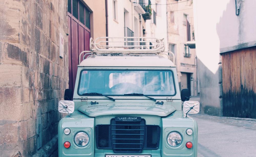
[[[37,115],[42,146],[58,133],[62,116],[57,103],[68,88],[67,1],[0,4],[0,156],[31,156],[38,151]]]

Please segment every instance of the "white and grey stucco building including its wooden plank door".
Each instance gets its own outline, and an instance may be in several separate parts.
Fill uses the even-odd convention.
[[[202,112],[256,118],[256,2],[193,5]]]

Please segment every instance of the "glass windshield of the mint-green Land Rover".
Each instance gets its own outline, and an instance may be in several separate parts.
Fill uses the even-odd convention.
[[[175,95],[171,70],[83,70],[78,94],[102,95]]]

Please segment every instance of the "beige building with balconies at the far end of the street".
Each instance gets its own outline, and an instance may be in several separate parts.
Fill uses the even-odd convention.
[[[193,1],[168,0],[167,44],[175,55],[180,89],[190,89],[191,96],[200,93],[197,78]]]

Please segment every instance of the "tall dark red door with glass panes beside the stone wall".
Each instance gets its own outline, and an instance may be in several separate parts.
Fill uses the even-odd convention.
[[[78,0],[68,0],[69,89],[74,91],[79,54],[90,50],[90,12]]]

